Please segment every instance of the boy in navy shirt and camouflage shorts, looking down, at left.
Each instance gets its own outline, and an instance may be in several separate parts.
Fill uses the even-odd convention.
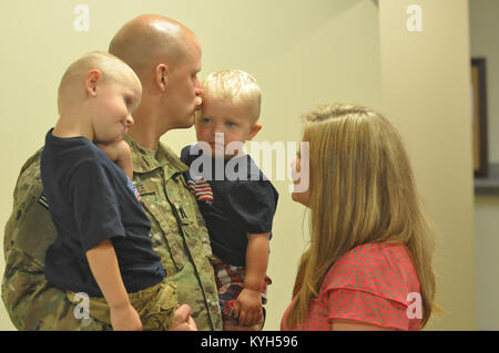
[[[73,62],[59,86],[60,117],[47,133],[40,165],[58,230],[45,278],[74,303],[77,293],[88,294],[90,315],[114,330],[167,330],[177,307],[152,250],[123,141],[141,95],[139,77],[111,54]]]

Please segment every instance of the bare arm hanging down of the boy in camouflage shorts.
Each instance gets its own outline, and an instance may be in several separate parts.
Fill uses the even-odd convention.
[[[86,251],[92,274],[99,284],[111,311],[111,323],[115,331],[142,330],[141,319],[130,303],[121,278],[114,247],[109,239]]]

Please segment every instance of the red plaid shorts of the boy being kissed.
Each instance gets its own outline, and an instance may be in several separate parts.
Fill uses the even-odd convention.
[[[234,303],[244,289],[246,269],[242,266],[223,263],[220,259],[214,262],[216,289],[218,290],[220,308],[224,320],[234,320]],[[268,276],[262,288],[262,304],[267,302],[267,285],[272,284]]]

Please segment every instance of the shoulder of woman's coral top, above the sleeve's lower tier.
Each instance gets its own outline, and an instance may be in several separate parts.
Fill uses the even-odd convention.
[[[342,256],[329,269],[322,290],[350,289],[407,302],[419,292],[419,281],[401,243],[365,243]]]

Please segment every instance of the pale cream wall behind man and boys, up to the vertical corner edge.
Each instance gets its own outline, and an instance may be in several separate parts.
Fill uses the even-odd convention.
[[[73,30],[73,9],[90,8],[90,31]],[[106,50],[118,29],[140,13],[163,13],[191,27],[203,45],[203,72],[246,70],[263,90],[262,123],[256,141],[301,139],[299,115],[318,103],[357,101],[379,106],[377,9],[370,0],[150,0],[1,1],[9,13],[0,22],[2,165],[0,229],[12,204],[22,163],[38,149],[57,118],[55,91],[67,65],[84,52]],[[192,131],[167,133],[175,150],[194,141]],[[289,160],[283,160],[287,166]],[[296,263],[304,246],[303,208],[291,201],[288,181],[275,181],[281,194],[268,274],[267,330],[278,330],[291,301]],[[305,227],[306,229],[306,227]],[[0,249],[1,250],[1,249]],[[3,258],[0,271],[3,272]],[[0,329],[12,329],[0,305]]]

